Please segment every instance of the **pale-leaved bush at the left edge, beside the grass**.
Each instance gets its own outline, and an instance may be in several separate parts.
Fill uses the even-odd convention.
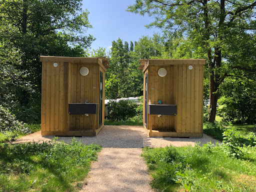
[[[14,139],[18,132],[30,133],[31,130],[23,122],[18,121],[8,109],[0,105],[0,131],[2,134],[10,134],[11,138]]]

